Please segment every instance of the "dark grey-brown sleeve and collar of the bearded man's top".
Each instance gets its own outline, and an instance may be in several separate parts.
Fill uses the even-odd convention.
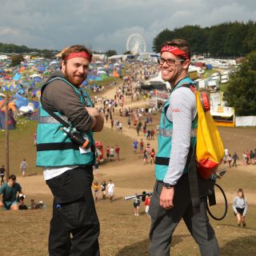
[[[63,77],[61,71],[57,71],[50,78]],[[87,132],[92,126],[92,118],[82,106],[82,102],[74,89],[66,82],[55,80],[50,82],[43,91],[42,101],[52,111],[58,111],[65,115],[78,130]]]

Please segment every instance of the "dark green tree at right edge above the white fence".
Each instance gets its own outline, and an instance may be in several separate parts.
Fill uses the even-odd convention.
[[[240,69],[230,78],[230,84],[224,93],[228,106],[233,106],[238,116],[256,113],[256,51],[242,62]]]

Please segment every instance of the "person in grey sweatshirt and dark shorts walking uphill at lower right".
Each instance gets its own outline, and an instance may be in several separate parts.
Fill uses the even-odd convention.
[[[238,195],[234,198],[232,207],[238,221],[238,226],[246,227],[248,204],[242,189],[238,190]]]

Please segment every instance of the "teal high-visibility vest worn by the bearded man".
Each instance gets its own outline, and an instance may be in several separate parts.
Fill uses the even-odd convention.
[[[77,89],[65,78],[55,77],[50,79],[46,84],[42,86],[43,91],[45,87],[55,80],[61,80],[70,85],[78,97],[80,98],[83,106],[94,106],[93,102],[90,101],[90,97],[85,91]],[[64,118],[64,120],[70,124],[70,129],[72,124],[68,122],[65,116],[58,112],[54,112],[58,116]],[[81,154],[77,144],[72,142],[62,129],[65,127],[52,118],[50,114],[42,108],[40,103],[39,106],[39,120],[38,120],[38,130],[37,130],[37,166],[84,166],[91,165],[94,163],[94,137],[93,132],[89,131],[87,133],[81,133],[84,138],[89,139],[91,149],[86,154]]]

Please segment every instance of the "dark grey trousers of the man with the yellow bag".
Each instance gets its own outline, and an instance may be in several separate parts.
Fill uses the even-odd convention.
[[[204,181],[200,180],[200,183],[202,182]],[[155,183],[150,203],[150,256],[170,256],[172,234],[181,219],[198,243],[201,254],[218,256],[220,254],[218,242],[206,214],[206,197],[200,199],[200,212],[194,215],[188,175],[183,174],[175,187],[174,208],[165,210],[160,206],[159,199],[162,186],[162,182]]]

